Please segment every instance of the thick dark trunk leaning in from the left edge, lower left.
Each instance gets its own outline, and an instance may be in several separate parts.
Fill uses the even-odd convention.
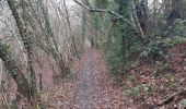
[[[0,41],[0,58],[4,62],[9,73],[18,85],[18,92],[22,94],[28,100],[31,99],[32,92],[30,90],[26,78],[21,73],[16,61],[13,59],[12,53],[9,51],[9,47]]]

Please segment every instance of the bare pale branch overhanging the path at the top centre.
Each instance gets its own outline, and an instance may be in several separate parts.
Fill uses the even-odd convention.
[[[123,15],[119,15],[117,12],[111,11],[111,10],[102,10],[102,9],[93,9],[93,8],[89,8],[85,4],[82,4],[81,2],[79,2],[78,0],[73,0],[75,3],[78,3],[79,5],[83,7],[84,9],[89,10],[90,12],[103,12],[103,13],[108,13],[112,14],[114,16],[116,16],[117,19],[121,20],[124,19]]]

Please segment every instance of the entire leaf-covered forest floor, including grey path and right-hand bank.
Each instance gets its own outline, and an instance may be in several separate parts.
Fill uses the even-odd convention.
[[[89,49],[74,72],[48,95],[49,109],[185,109],[186,44],[168,50],[170,62],[141,62],[119,80],[111,76],[103,55]]]

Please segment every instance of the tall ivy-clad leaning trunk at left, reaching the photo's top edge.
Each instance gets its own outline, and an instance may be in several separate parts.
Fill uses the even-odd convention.
[[[26,28],[26,23],[24,23],[25,17],[23,16],[22,17],[23,21],[21,20],[21,16],[19,15],[18,9],[15,7],[15,2],[16,2],[15,0],[8,0],[8,4],[10,7],[10,10],[12,11],[12,14],[15,20],[20,36],[21,36],[24,47],[27,51],[27,62],[28,62],[27,69],[31,73],[31,78],[32,78],[31,85],[32,85],[32,94],[33,94],[32,97],[34,97],[34,95],[37,93],[37,88],[36,88],[36,75],[35,75],[34,68],[33,68],[33,65],[34,65],[33,41],[32,41],[30,35],[27,34],[28,28]],[[22,3],[24,3],[24,1],[22,1]]]

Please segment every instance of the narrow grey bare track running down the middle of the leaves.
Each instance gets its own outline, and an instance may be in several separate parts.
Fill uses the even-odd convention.
[[[75,107],[79,109],[95,109],[93,101],[93,80],[91,76],[92,72],[92,51],[88,51],[86,61],[83,64],[83,70],[75,83]]]

